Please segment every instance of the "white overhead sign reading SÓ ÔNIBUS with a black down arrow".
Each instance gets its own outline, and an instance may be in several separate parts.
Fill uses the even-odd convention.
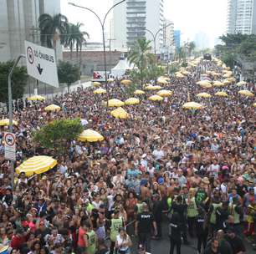
[[[25,41],[28,75],[46,84],[59,87],[54,49]]]

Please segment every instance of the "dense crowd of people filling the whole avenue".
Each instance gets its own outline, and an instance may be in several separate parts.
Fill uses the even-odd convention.
[[[223,74],[214,61],[200,61],[186,77],[170,77],[164,89],[171,89],[172,97],[151,102],[152,91],[146,91],[141,104],[125,106],[129,119],[112,117],[102,104],[105,95],[93,94],[92,87],[55,97],[59,112],[44,111],[49,101],[14,104],[15,166],[33,155],[54,156],[58,165],[42,175],[16,175],[12,189],[1,130],[3,250],[142,254],[168,234],[170,254],[175,248],[181,253],[182,243],[193,238],[198,253],[245,253],[244,238],[255,241],[253,99],[239,95],[234,82],[221,89],[228,98],[214,96],[220,88],[213,87],[207,89],[211,99],[198,99],[206,91],[196,84],[202,70]],[[254,84],[247,88],[255,93]],[[125,89],[116,80],[110,97],[127,99]],[[182,109],[188,99],[204,107]],[[61,155],[34,144],[33,131],[53,119],[76,117],[105,140],[74,140]]]

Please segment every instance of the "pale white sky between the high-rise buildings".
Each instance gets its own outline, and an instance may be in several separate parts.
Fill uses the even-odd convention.
[[[100,42],[99,21],[92,13],[70,6],[69,2],[92,8],[103,18],[113,0],[61,0],[61,12],[69,22],[84,23],[90,41]],[[182,41],[192,41],[196,33],[206,33],[213,46],[214,40],[225,33],[228,0],[164,0],[164,4],[165,18],[172,20],[175,29],[182,31]],[[106,21],[107,30],[110,18],[111,14]]]

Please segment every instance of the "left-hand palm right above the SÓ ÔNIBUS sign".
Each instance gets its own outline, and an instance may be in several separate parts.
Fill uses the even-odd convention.
[[[67,33],[68,18],[60,13],[54,16],[44,13],[38,18],[38,23],[42,45],[54,48],[56,51],[58,39],[60,38],[60,42],[64,43],[63,38]]]

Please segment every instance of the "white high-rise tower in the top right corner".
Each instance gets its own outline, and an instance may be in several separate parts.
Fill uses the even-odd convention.
[[[256,33],[256,0],[228,0],[227,33]]]

